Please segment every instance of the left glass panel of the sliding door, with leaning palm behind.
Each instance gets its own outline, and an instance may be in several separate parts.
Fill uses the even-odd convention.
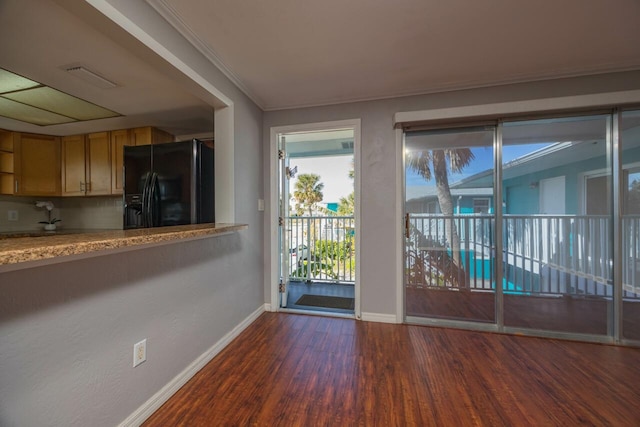
[[[494,128],[405,134],[405,313],[494,323]]]

